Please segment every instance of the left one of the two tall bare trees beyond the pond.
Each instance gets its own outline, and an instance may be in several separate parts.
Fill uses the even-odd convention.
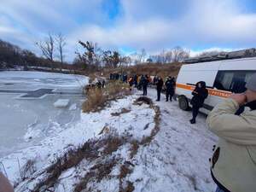
[[[46,59],[53,62],[54,61],[54,50],[55,50],[55,40],[53,36],[49,33],[48,37],[44,41],[36,43],[38,48],[41,49],[42,54]],[[53,68],[53,65],[52,65]]]

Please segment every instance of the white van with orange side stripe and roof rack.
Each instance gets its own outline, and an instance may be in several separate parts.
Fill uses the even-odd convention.
[[[253,73],[256,73],[256,57],[183,65],[177,76],[175,90],[179,108],[189,109],[195,84],[205,81],[209,96],[201,112],[209,113],[231,93],[244,92],[245,84]]]

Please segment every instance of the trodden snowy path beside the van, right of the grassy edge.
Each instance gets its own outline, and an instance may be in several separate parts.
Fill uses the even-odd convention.
[[[148,92],[154,100],[156,90]],[[137,158],[143,166],[137,166],[131,174],[133,180],[137,175],[143,177],[136,191],[213,191],[208,160],[217,137],[207,130],[206,117],[199,114],[197,123],[191,125],[191,112],[184,112],[177,102],[166,102],[161,97],[157,102],[161,110],[160,131],[147,148],[141,148]]]

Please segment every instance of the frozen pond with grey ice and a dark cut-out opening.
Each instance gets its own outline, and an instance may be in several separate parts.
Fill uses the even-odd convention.
[[[0,72],[0,157],[36,145],[80,119],[84,76]],[[55,108],[68,99],[66,108]]]

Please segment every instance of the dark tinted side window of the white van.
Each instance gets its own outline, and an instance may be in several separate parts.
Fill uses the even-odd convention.
[[[219,71],[213,87],[218,90],[242,93],[246,90],[247,80],[253,73],[256,71]]]

